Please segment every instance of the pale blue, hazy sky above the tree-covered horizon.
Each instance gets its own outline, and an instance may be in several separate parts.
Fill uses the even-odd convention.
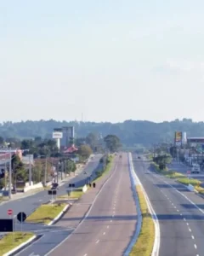
[[[201,0],[0,0],[0,121],[203,120]]]

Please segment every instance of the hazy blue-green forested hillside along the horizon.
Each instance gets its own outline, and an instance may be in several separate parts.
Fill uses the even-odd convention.
[[[152,144],[159,142],[173,142],[174,131],[186,131],[188,137],[204,137],[204,123],[192,122],[191,119],[174,120],[172,122],[154,123],[150,121],[126,120],[123,123],[93,123],[93,122],[59,122],[53,119],[12,123],[4,122],[0,125],[0,136],[4,138],[51,137],[54,128],[65,125],[74,125],[76,136],[85,137],[89,132],[116,134],[122,143],[133,146],[134,144]]]

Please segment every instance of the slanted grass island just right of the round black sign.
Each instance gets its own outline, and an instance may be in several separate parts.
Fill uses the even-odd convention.
[[[48,224],[54,218],[58,216],[60,212],[64,209],[66,204],[57,204],[57,205],[42,205],[38,207],[35,212],[32,212],[28,218],[26,218],[26,222],[30,223],[43,223]]]

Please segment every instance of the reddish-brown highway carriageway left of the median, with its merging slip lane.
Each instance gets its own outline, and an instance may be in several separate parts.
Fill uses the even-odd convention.
[[[17,255],[122,255],[133,236],[136,219],[127,154],[123,154],[96,188],[88,190],[54,225],[56,231]]]

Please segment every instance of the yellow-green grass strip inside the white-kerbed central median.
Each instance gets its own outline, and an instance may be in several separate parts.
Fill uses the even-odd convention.
[[[142,212],[142,226],[138,240],[133,246],[130,256],[142,255],[150,256],[155,241],[155,225],[150,213],[148,212],[147,203],[140,186],[136,186],[139,196],[139,205]]]

